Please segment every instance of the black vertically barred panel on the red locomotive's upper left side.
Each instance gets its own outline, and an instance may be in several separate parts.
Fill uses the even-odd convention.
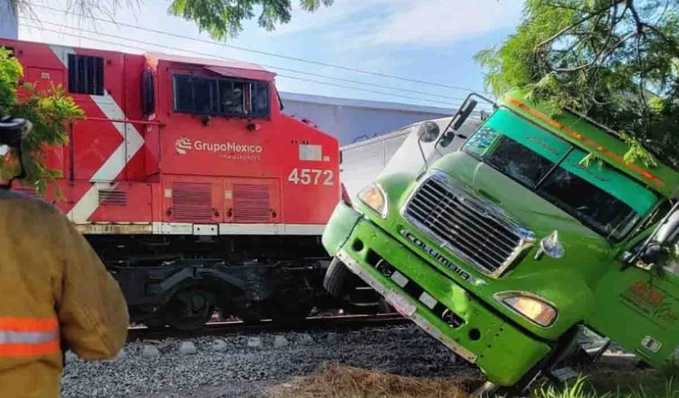
[[[69,92],[104,95],[104,59],[69,54]]]

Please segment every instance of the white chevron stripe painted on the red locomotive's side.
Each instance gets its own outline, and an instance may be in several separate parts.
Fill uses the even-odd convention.
[[[68,69],[68,54],[74,54],[75,51],[71,47],[62,47],[51,45],[50,48],[54,55],[59,58],[64,68]],[[106,90],[104,95],[91,95],[91,100],[97,104],[101,112],[110,119],[124,120],[125,113],[120,109],[120,106]],[[125,169],[129,163],[129,159],[139,152],[139,149],[144,146],[144,137],[141,137],[137,128],[129,123],[112,122],[113,126],[118,130],[123,142],[116,148],[108,159],[100,166],[100,168],[92,175],[92,186],[87,192],[82,195],[81,199],[73,205],[68,217],[73,223],[88,223],[89,218],[99,207],[99,190],[100,187],[108,186],[100,184],[102,181],[113,181]],[[73,159],[71,159],[73,161]]]

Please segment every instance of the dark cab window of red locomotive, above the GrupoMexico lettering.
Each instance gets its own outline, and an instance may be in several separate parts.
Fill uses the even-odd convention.
[[[175,112],[236,118],[269,117],[269,85],[263,81],[174,75]]]

